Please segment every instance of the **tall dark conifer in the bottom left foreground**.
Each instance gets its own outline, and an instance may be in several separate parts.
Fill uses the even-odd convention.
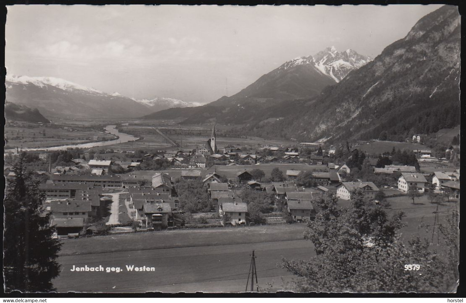
[[[27,172],[25,153],[13,166],[16,174],[4,200],[3,269],[5,290],[54,291],[52,279],[60,273],[56,262],[61,244],[52,238],[50,214],[45,213],[43,193],[33,174]]]

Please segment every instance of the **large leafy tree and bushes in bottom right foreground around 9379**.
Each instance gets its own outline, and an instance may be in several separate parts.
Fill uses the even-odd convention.
[[[388,217],[382,207],[364,199],[361,191],[353,194],[349,207],[339,207],[333,195],[315,204],[321,211],[308,223],[305,238],[314,243],[316,255],[308,260],[283,260],[282,267],[297,276],[290,290],[449,292],[456,285],[459,241],[455,217],[444,228],[445,244],[436,251],[419,236],[404,245],[398,234],[404,225],[403,213]],[[404,264],[422,265],[418,271],[409,271]]]

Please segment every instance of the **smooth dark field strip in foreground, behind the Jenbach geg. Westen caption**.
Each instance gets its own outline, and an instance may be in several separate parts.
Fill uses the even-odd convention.
[[[310,241],[293,240],[69,255],[59,257],[62,272],[54,285],[58,292],[241,292],[253,249],[259,287],[267,288],[272,282],[271,291],[280,289],[282,276],[291,278],[285,269],[277,268],[282,257],[307,259],[314,254]],[[73,265],[122,271],[72,272]],[[154,267],[155,271],[127,271],[126,265]]]

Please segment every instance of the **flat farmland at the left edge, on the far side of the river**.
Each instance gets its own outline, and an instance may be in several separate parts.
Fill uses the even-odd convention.
[[[71,131],[72,130],[72,131]],[[67,129],[35,126],[35,127],[5,127],[4,135],[8,139],[5,149],[24,147],[41,148],[57,145],[71,145],[94,141],[102,141],[113,136],[91,129],[73,128]],[[94,137],[97,137],[94,139]]]

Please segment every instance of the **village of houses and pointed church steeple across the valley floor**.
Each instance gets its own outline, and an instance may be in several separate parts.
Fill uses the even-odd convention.
[[[366,155],[366,144],[219,148],[212,126],[211,137],[192,150],[67,150],[58,156],[62,165],[53,168],[50,153],[29,152],[26,159],[49,166],[34,173],[42,181],[50,225],[61,239],[306,223],[319,211],[316,199],[334,194],[349,201],[356,190],[385,208],[390,197],[401,197],[406,205],[421,196],[432,203],[459,200],[459,168],[452,166],[459,161],[459,143],[443,157],[395,148]],[[9,166],[4,174],[7,180],[15,176]]]

